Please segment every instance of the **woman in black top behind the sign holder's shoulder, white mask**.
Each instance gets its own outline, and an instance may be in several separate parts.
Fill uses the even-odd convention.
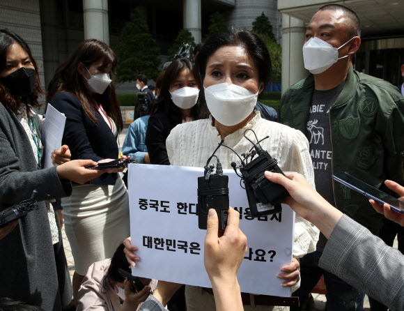
[[[153,105],[146,132],[146,146],[151,164],[170,165],[166,139],[175,126],[209,116],[208,108],[199,98],[201,92],[196,91],[201,89],[201,85],[194,65],[187,59],[176,59],[166,69],[160,95]]]

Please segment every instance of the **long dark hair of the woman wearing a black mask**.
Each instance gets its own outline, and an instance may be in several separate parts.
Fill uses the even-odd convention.
[[[33,89],[33,92],[29,95],[26,96],[26,98],[23,98],[23,102],[26,105],[30,105],[31,107],[39,107],[38,103],[38,96],[39,94],[45,94],[44,91],[40,88],[40,80],[39,80],[39,74],[38,74],[38,66],[36,65],[35,59],[33,59],[31,49],[29,48],[28,44],[17,35],[17,33],[14,33],[13,31],[10,31],[6,28],[0,29],[0,71],[2,71],[4,68],[6,68],[6,61],[7,61],[7,52],[8,48],[13,45],[17,44],[22,47],[22,50],[26,52],[29,56],[29,60],[33,64],[33,67],[35,68],[35,76],[36,76],[36,82],[35,82],[35,89]],[[18,107],[20,107],[20,101],[18,101],[13,95],[10,94],[10,91],[8,91],[8,88],[1,84],[0,82],[0,102],[3,103],[6,107],[10,108],[13,110],[13,112],[16,112]]]

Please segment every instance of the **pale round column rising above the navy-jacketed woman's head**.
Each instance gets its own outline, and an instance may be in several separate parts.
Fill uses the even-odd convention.
[[[83,0],[84,38],[109,45],[108,0]]]

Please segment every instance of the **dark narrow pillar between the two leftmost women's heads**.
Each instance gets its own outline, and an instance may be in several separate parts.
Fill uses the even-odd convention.
[[[40,29],[42,31],[43,68],[45,74],[44,89],[53,79],[59,66],[58,36],[56,33],[56,1],[41,0],[40,2]]]

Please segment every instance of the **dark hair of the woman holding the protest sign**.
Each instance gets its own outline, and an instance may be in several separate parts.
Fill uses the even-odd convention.
[[[227,31],[217,33],[212,36],[201,48],[201,51],[196,58],[196,70],[201,74],[201,79],[205,78],[206,64],[212,54],[220,47],[235,46],[242,47],[247,51],[247,54],[254,61],[258,70],[259,83],[264,84],[264,89],[270,82],[271,76],[271,58],[270,53],[256,34],[248,30],[231,27]]]

